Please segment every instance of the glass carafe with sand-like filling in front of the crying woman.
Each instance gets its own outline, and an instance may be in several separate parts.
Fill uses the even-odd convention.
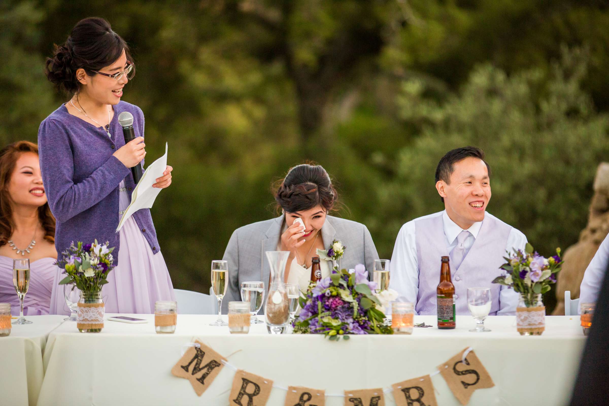
[[[281,334],[290,318],[286,285],[283,282],[289,251],[266,251],[270,265],[269,294],[264,304],[264,320],[270,334]]]

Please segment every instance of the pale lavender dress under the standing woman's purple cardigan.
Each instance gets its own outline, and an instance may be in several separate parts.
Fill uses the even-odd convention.
[[[124,182],[119,186],[125,187]],[[121,211],[129,205],[129,195],[119,194]],[[122,216],[122,215],[121,215]],[[129,217],[119,231],[121,248],[118,252],[119,265],[108,275],[108,283],[102,287],[106,313],[154,313],[158,300],[175,300],[174,286],[169,278],[169,270],[163,253],[152,253],[138,223]],[[100,241],[101,242],[101,241]],[[116,256],[116,251],[113,255]],[[69,315],[63,295],[63,285],[57,283],[65,277],[59,270],[53,283],[51,314]],[[14,289],[13,289],[14,291]]]

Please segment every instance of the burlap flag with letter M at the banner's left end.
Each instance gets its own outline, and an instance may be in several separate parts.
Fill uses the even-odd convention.
[[[195,341],[195,344],[199,347],[189,348],[171,369],[171,373],[188,379],[197,395],[201,396],[211,382],[214,382],[224,367],[222,361],[226,359],[199,340]]]

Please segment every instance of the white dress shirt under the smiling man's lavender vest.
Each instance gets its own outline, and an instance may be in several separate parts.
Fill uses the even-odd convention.
[[[445,236],[445,240],[439,243],[445,243],[449,253],[457,246],[457,236],[463,229],[448,217],[446,211],[419,217],[418,219],[411,220],[404,224],[395,241],[390,264],[390,287],[398,292],[398,301],[410,302],[415,305],[417,303],[419,267],[417,244],[415,242],[415,221],[438,215],[442,215]],[[492,217],[488,212],[485,213],[485,217],[487,215]],[[484,222],[484,220],[482,220],[482,222]],[[465,255],[470,251],[471,246],[474,245],[482,222],[473,223],[473,225],[467,229],[467,231],[470,232],[470,236],[463,242],[466,250]],[[527,237],[518,231],[518,229],[512,228],[507,238],[505,250],[510,252],[515,249],[524,251],[526,244]],[[501,286],[499,301],[501,303],[501,309],[497,312],[497,315],[515,314],[516,307],[518,306],[518,293],[514,292],[513,289],[509,289],[507,286]]]

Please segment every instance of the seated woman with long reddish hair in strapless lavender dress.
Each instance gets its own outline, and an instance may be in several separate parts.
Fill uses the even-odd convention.
[[[19,315],[13,287],[15,258],[30,260],[23,314],[49,314],[57,274],[54,236],[55,219],[44,194],[37,145],[18,141],[4,147],[0,151],[0,302],[12,305],[13,315]]]

